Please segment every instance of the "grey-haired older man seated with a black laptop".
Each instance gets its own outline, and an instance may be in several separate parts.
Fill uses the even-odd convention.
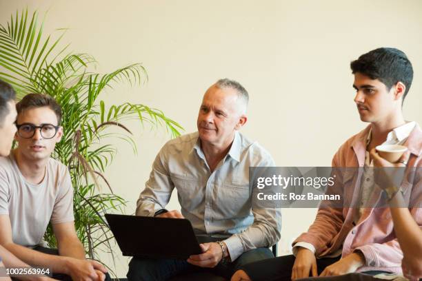
[[[188,260],[133,258],[130,280],[167,280],[206,268],[230,278],[242,264],[272,257],[267,247],[279,240],[280,211],[252,198],[249,167],[274,166],[274,161],[238,132],[247,121],[248,99],[236,81],[212,85],[199,109],[198,132],[164,145],[137,202],[138,216],[190,220],[199,240],[207,241],[203,253]],[[163,209],[174,187],[181,212]]]

